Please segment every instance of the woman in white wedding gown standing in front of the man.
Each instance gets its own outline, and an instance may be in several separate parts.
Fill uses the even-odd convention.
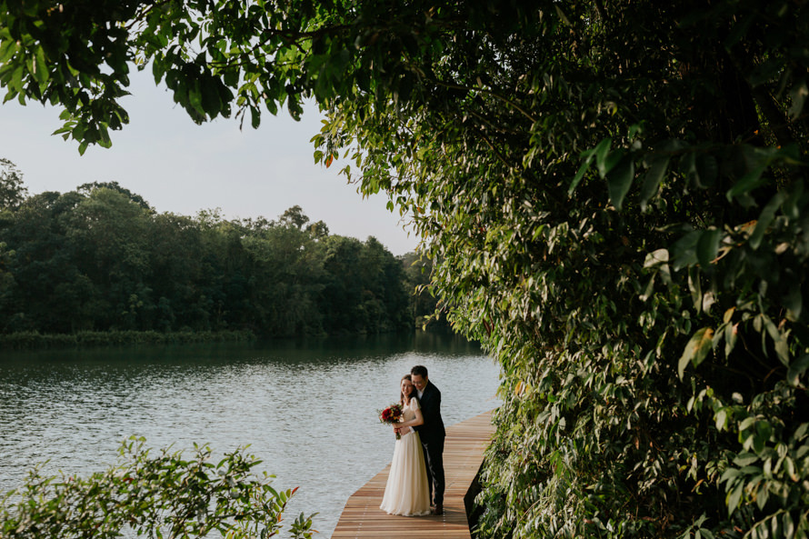
[[[421,516],[430,514],[430,494],[422,443],[418,433],[411,427],[424,424],[424,417],[410,374],[405,374],[402,378],[401,389],[399,404],[402,405],[405,421],[396,424],[395,428],[402,434],[402,438],[396,440],[391,471],[379,508],[387,514]]]

